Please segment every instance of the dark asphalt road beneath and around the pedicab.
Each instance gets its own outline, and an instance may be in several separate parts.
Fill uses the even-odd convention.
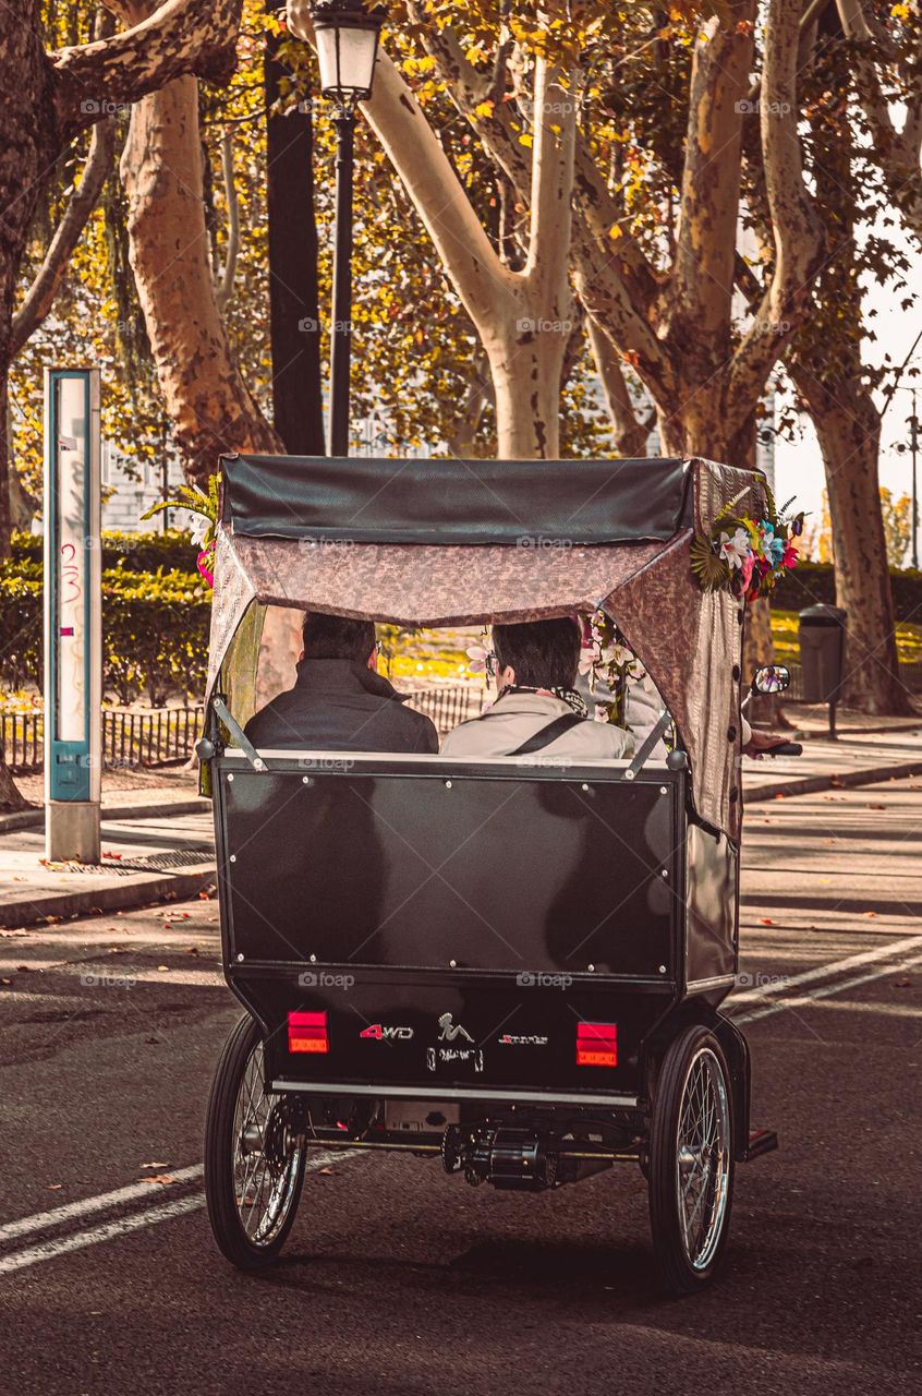
[[[783,1148],[683,1302],[632,1168],[524,1198],[350,1157],[308,1177],[283,1262],[237,1275],[195,1171],[236,1018],[215,903],[0,940],[0,1389],[919,1390],[921,811],[922,780],[750,811],[735,1011]]]

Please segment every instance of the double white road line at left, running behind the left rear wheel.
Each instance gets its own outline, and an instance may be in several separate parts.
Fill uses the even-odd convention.
[[[307,1160],[305,1171],[312,1173],[317,1168],[325,1168],[332,1163],[346,1163],[349,1160],[354,1161],[356,1154],[343,1154],[340,1150],[324,1150],[322,1153],[311,1154]],[[172,1173],[170,1177],[177,1181],[184,1181],[187,1178],[201,1177],[204,1166],[194,1164],[190,1168],[179,1170]],[[73,1216],[80,1216],[81,1209],[84,1212],[100,1210],[102,1208],[109,1208],[117,1205],[117,1202],[131,1201],[141,1194],[149,1194],[149,1188],[144,1184],[130,1188],[119,1188],[114,1192],[102,1192],[96,1198],[86,1198],[85,1202],[74,1202],[64,1208],[54,1208],[52,1212],[40,1212],[33,1217],[22,1217],[21,1222],[10,1222],[8,1226],[3,1228],[3,1235],[20,1235],[25,1231],[36,1231],[40,1227],[56,1226],[59,1222],[66,1222]],[[89,1206],[93,1203],[93,1206]],[[10,1275],[14,1270],[22,1270],[29,1265],[38,1265],[40,1261],[53,1261],[59,1255],[67,1255],[70,1251],[82,1251],[88,1245],[99,1245],[100,1241],[114,1241],[120,1235],[127,1235],[130,1231],[139,1231],[142,1227],[156,1226],[158,1222],[169,1222],[173,1217],[184,1216],[188,1212],[197,1212],[199,1208],[205,1206],[205,1194],[194,1192],[191,1196],[176,1198],[174,1202],[162,1202],[156,1208],[148,1208],[146,1212],[134,1212],[124,1217],[116,1217],[113,1222],[103,1222],[100,1226],[92,1227],[86,1231],[77,1231],[73,1235],[64,1235],[54,1241],[39,1241],[38,1245],[27,1247],[24,1251],[13,1251],[10,1255],[0,1256],[0,1275]],[[50,1220],[46,1220],[49,1219]],[[35,1224],[38,1223],[38,1224]],[[11,1230],[18,1227],[20,1230]]]

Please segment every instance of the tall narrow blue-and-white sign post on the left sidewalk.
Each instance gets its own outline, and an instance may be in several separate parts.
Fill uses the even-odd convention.
[[[100,861],[99,370],[45,370],[45,845]]]

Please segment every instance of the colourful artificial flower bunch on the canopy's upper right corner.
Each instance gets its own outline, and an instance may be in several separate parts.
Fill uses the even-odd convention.
[[[776,510],[767,484],[764,518],[735,512],[746,486],[720,511],[706,537],[692,540],[692,571],[702,591],[732,592],[753,602],[767,596],[798,563],[795,539],[803,532],[803,514],[789,514],[794,500]]]

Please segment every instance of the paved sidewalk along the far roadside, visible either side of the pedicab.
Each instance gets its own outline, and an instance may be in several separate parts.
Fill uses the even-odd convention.
[[[847,716],[840,740],[830,741],[824,713],[789,712],[798,723],[791,740],[803,740],[803,755],[746,759],[748,804],[922,775],[922,719]],[[107,793],[99,868],[46,864],[43,811],[24,812],[27,826],[10,828],[7,817],[4,832],[0,819],[0,927],[179,900],[215,882],[211,803],[187,783]]]

